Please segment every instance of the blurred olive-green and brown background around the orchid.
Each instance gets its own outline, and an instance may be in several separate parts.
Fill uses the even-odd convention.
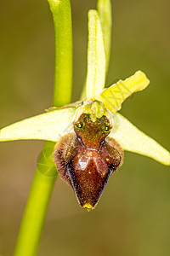
[[[170,150],[170,2],[115,0],[107,85],[141,69],[150,86],[123,103],[133,124]],[[87,15],[94,0],[72,0],[73,101],[86,75]],[[0,126],[52,105],[54,30],[45,0],[0,1]],[[42,142],[0,143],[0,254],[10,256]],[[33,230],[32,230],[33,232]],[[38,256],[170,255],[170,168],[126,153],[99,205],[82,210],[59,178]]]

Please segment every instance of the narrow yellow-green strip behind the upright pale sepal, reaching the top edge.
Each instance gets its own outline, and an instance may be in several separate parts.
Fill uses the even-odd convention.
[[[111,55],[111,0],[98,0],[98,12],[104,38],[107,71]]]

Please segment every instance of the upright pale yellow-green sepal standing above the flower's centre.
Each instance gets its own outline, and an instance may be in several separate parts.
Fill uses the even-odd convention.
[[[99,99],[105,87],[105,47],[99,15],[96,10],[88,12],[88,74],[86,100]]]

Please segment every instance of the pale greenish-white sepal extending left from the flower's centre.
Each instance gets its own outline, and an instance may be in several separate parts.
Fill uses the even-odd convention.
[[[14,140],[59,141],[72,132],[72,120],[76,108],[62,108],[24,119],[0,130],[0,142]]]

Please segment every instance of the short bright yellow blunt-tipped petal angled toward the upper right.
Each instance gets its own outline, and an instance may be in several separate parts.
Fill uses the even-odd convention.
[[[145,74],[138,71],[128,79],[119,80],[116,84],[111,85],[108,89],[102,91],[100,95],[100,101],[105,104],[111,113],[122,108],[122,102],[124,102],[128,96],[131,96],[134,92],[144,90],[150,80],[146,78]]]

